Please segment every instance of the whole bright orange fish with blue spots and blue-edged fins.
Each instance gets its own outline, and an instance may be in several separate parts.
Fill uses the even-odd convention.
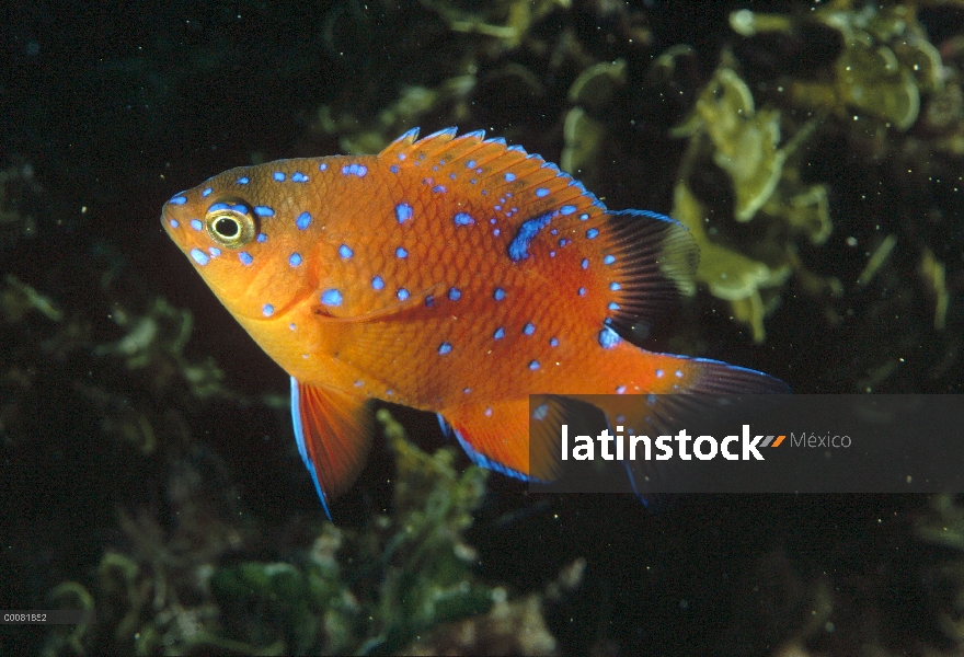
[[[607,210],[555,165],[481,131],[416,139],[232,169],[162,210],[198,274],[291,376],[298,448],[325,512],[364,464],[375,399],[437,413],[475,462],[525,480],[555,472],[551,458],[530,468],[529,394],[787,390],[632,344],[692,289],[698,250],[680,223]],[[669,413],[661,405],[602,411],[635,413],[621,418],[631,426]]]

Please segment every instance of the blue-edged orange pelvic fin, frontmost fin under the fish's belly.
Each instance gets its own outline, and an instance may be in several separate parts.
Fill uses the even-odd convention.
[[[369,403],[291,377],[291,419],[298,453],[311,474],[324,512],[331,519],[329,498],[344,492],[355,481],[371,447]]]

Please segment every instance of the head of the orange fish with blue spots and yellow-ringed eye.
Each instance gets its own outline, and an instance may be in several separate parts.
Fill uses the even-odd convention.
[[[306,217],[297,194],[272,184],[277,166],[237,168],[174,195],[161,210],[168,235],[237,318],[278,319],[309,297]],[[302,199],[303,200],[303,199]]]

